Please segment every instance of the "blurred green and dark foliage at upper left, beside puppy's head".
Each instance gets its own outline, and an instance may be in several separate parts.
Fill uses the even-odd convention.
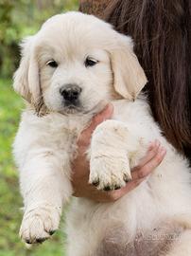
[[[24,37],[48,17],[70,9],[78,9],[78,0],[0,0],[0,76],[12,76]]]

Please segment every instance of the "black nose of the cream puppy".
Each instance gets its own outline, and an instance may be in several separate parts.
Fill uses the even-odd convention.
[[[66,84],[60,89],[61,96],[65,101],[77,101],[81,88],[77,84]]]

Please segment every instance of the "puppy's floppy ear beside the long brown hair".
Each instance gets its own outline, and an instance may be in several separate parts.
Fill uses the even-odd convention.
[[[143,68],[133,53],[130,37],[117,34],[117,46],[111,52],[114,89],[123,98],[134,100],[148,82]]]

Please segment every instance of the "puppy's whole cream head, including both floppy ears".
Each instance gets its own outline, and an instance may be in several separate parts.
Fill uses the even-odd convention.
[[[14,88],[36,111],[89,113],[113,91],[134,99],[147,82],[129,37],[94,16],[68,12],[26,39]]]

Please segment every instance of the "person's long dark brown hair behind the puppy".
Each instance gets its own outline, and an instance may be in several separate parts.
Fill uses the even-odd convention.
[[[191,1],[107,2],[99,16],[133,38],[153,116],[165,137],[191,159]]]

